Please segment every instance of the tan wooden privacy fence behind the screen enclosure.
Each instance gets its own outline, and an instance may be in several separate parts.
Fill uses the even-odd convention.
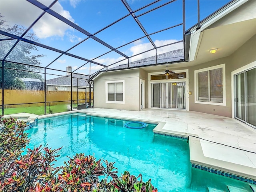
[[[90,92],[78,92],[78,99],[82,99],[82,101],[78,101],[79,103],[85,102],[85,98],[87,102],[89,102]],[[72,98],[74,100],[73,103],[77,103],[77,92],[73,91]],[[93,99],[93,92],[91,92],[91,98]],[[46,91],[46,102],[47,105],[58,105],[61,101],[70,101],[71,100],[71,92],[70,91]],[[19,107],[15,104],[21,103],[38,103],[44,102],[44,91],[38,90],[4,90],[4,104],[11,104],[6,106],[5,108],[16,108]],[[2,104],[2,90],[0,90],[0,104]],[[64,104],[64,102],[63,102]],[[44,103],[33,104],[34,106],[44,106]],[[28,104],[29,106],[29,104]]]

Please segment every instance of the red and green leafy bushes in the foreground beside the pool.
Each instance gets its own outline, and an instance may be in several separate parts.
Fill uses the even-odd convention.
[[[76,154],[54,167],[58,149],[27,149],[25,122],[0,117],[0,192],[157,192],[151,180],[128,171],[117,175],[114,162]]]

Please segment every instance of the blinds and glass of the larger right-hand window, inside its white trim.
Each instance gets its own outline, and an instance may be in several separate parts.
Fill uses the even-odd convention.
[[[198,101],[223,102],[222,68],[198,72]]]

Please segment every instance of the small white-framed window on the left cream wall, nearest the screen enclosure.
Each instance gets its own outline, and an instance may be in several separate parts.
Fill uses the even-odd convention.
[[[124,81],[106,82],[106,102],[124,103]]]

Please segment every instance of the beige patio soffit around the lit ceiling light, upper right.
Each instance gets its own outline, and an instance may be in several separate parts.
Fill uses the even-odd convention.
[[[256,34],[256,18],[204,30],[200,34],[196,61],[208,62],[226,57]],[[218,48],[215,54],[209,50]]]

